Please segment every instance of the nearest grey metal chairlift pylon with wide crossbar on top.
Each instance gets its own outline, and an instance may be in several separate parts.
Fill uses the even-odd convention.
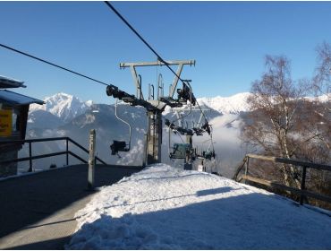
[[[174,82],[170,85],[168,96],[164,96],[163,82],[160,77],[157,83],[157,97],[154,96],[154,85],[149,85],[149,98],[144,99],[141,87],[141,77],[137,74],[137,67],[178,65]],[[106,94],[119,100],[129,103],[131,106],[142,106],[147,109],[148,114],[148,136],[147,136],[147,164],[159,163],[161,161],[161,143],[162,143],[162,112],[166,106],[171,108],[180,108],[191,100],[195,104],[195,97],[191,93],[189,83],[182,83],[182,89],[177,89],[177,83],[184,65],[195,65],[195,60],[177,60],[177,61],[160,61],[156,62],[139,62],[139,63],[121,63],[120,68],[131,69],[133,82],[136,86],[136,96],[121,91],[115,85],[106,87]],[[174,99],[174,92],[177,91],[178,99]]]

